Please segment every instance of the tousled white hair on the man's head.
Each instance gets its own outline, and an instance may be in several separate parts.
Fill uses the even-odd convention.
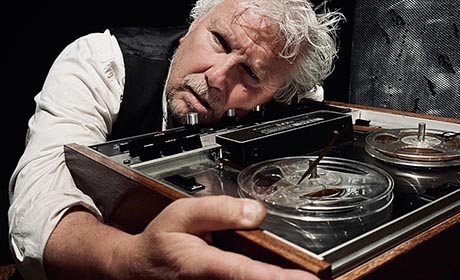
[[[197,0],[190,12],[192,20],[208,13],[224,0]],[[338,11],[315,9],[309,0],[240,0],[240,8],[267,17],[278,25],[284,40],[279,56],[294,63],[294,71],[274,98],[289,103],[293,96],[308,97],[332,72],[337,57]]]

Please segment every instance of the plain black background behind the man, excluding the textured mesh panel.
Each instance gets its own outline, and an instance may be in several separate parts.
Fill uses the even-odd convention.
[[[349,2],[349,3],[344,3]],[[0,185],[0,265],[10,262],[7,238],[8,181],[24,149],[27,122],[35,109],[33,97],[40,91],[54,59],[73,40],[90,32],[113,26],[167,26],[188,22],[193,0],[159,2],[61,1],[3,6],[2,120],[3,165]],[[326,99],[348,100],[348,67],[351,48],[352,1],[334,0],[347,22],[340,32],[340,52],[336,68],[326,80]],[[155,7],[158,5],[158,7]],[[153,7],[152,7],[153,6]],[[160,7],[161,6],[161,7]]]

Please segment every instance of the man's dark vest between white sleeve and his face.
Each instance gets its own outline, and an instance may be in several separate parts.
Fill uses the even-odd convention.
[[[162,95],[171,57],[186,26],[113,28],[125,62],[120,112],[108,140],[162,129]]]

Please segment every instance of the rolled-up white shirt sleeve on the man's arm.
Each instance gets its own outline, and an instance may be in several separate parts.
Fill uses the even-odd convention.
[[[25,152],[10,180],[9,238],[27,279],[46,279],[43,252],[62,215],[83,205],[102,220],[94,202],[76,188],[64,144],[105,141],[117,117],[124,64],[109,31],[81,37],[66,47],[35,96]]]

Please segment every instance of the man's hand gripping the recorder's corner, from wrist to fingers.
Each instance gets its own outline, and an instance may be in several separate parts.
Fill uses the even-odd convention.
[[[265,214],[262,204],[250,199],[207,196],[177,200],[142,234],[133,237],[131,244],[123,244],[119,254],[131,250],[135,255],[130,257],[130,262],[136,260],[129,269],[131,279],[317,279],[304,271],[281,269],[222,251],[205,241],[211,231],[256,228]]]

